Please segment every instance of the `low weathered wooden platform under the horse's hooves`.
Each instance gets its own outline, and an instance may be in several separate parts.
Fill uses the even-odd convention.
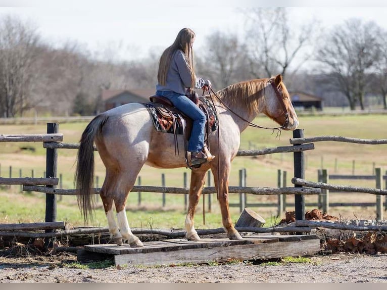
[[[114,258],[116,265],[204,264],[232,259],[260,260],[314,255],[320,251],[316,235],[252,235],[242,240],[202,238],[201,241],[164,239],[143,243],[144,247],[114,244],[88,245],[78,251],[78,261]]]

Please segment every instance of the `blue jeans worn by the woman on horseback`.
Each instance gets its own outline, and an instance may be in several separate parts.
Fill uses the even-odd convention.
[[[172,104],[192,119],[192,131],[188,141],[188,151],[201,151],[204,146],[204,127],[206,125],[206,115],[189,100],[185,95],[174,91],[156,91],[157,95],[162,95],[167,98]]]

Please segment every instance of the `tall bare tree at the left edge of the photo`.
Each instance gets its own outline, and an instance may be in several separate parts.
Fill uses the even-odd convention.
[[[30,24],[11,16],[0,19],[0,110],[5,117],[22,115],[29,107],[38,41]]]

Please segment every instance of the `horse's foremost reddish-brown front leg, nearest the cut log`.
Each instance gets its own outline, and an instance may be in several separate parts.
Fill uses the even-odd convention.
[[[220,168],[219,182],[218,182],[218,170]],[[227,237],[229,239],[242,239],[241,235],[234,228],[231,217],[230,210],[228,207],[228,178],[230,175],[230,163],[224,162],[220,164],[214,163],[211,168],[212,173],[214,174],[215,187],[218,192],[218,200],[220,205],[220,211],[222,213],[222,223],[227,232]]]

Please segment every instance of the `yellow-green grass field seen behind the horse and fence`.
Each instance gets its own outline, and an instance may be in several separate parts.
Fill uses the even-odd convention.
[[[266,117],[259,117],[256,123],[264,126],[272,125]],[[64,134],[64,142],[78,142],[86,123],[64,123],[59,125],[59,132]],[[341,135],[346,137],[381,139],[386,137],[387,118],[385,115],[358,115],[358,116],[307,116],[300,118],[300,128],[303,128],[305,136]],[[45,133],[46,125],[3,125],[0,134]],[[241,136],[240,149],[262,149],[277,146],[288,146],[292,132],[283,131],[280,137],[270,130],[248,128]],[[22,147],[32,147],[35,152],[21,150]],[[306,151],[306,173],[308,180],[317,180],[317,169],[323,167],[329,173],[352,174],[353,165],[355,174],[372,174],[374,167],[387,169],[387,145],[361,145],[341,142],[316,142],[315,150]],[[73,188],[76,150],[59,150],[58,175],[62,176],[62,187]],[[35,177],[43,176],[45,170],[45,149],[41,143],[0,143],[0,173],[3,177],[9,177],[12,166],[12,177],[31,176],[32,170]],[[99,178],[98,186],[104,180],[105,168],[95,154],[95,175]],[[335,163],[337,166],[335,167]],[[239,184],[239,169],[247,169],[247,186],[276,187],[277,170],[287,171],[287,186],[292,186],[293,154],[273,154],[260,157],[238,157],[232,163],[230,185]],[[337,171],[337,172],[335,172]],[[183,185],[183,172],[189,170],[169,169],[161,170],[148,166],[143,167],[141,176],[142,185],[161,185],[161,173],[166,176],[167,186]],[[346,181],[339,180],[337,184],[351,184],[358,186],[374,187],[372,181]],[[188,180],[189,184],[189,180]],[[212,181],[213,184],[213,181]],[[37,192],[20,192],[20,186],[11,188],[0,187],[2,203],[0,203],[0,223],[33,222],[44,220],[44,194]],[[184,197],[167,195],[166,207],[162,207],[162,195],[143,192],[141,205],[138,206],[136,192],[129,194],[127,203],[128,219],[131,227],[146,228],[180,228],[183,226]],[[59,199],[59,197],[58,197]],[[249,203],[276,202],[273,196],[248,196]],[[237,194],[230,195],[230,202],[238,201]],[[293,196],[287,197],[288,202],[293,202]],[[307,197],[307,202],[316,202],[317,197]],[[367,194],[331,194],[331,202],[374,202],[375,196]],[[216,203],[216,196],[212,198],[212,211],[208,212],[208,200],[206,198],[205,224],[203,223],[203,204],[198,207],[195,217],[197,228],[214,228],[221,226],[220,210]],[[307,208],[307,210],[312,208]],[[282,217],[275,218],[276,208],[260,207],[254,211],[266,219],[266,226],[271,226]],[[288,210],[292,210],[289,208]],[[374,218],[375,208],[331,208],[329,214],[342,216],[343,218]],[[239,217],[239,209],[231,208],[231,217],[236,221]],[[83,225],[83,219],[79,213],[75,197],[63,197],[58,200],[57,220],[66,220],[73,225]],[[105,214],[100,201],[97,202],[95,220],[93,225],[106,225]]]

